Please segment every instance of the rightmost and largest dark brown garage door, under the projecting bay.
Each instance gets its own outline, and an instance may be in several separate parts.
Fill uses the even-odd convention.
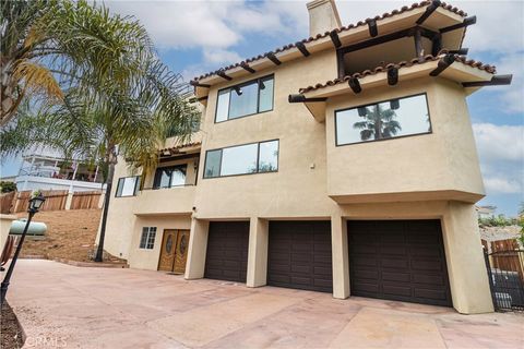
[[[347,222],[352,294],[451,306],[439,220]]]

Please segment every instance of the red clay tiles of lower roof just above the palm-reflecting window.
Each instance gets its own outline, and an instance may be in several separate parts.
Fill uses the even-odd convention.
[[[376,67],[372,70],[367,69],[362,72],[346,75],[342,79],[337,77],[335,80],[330,80],[330,81],[325,82],[324,84],[319,83],[319,84],[315,84],[314,86],[308,86],[308,87],[299,88],[298,92],[303,94],[303,93],[315,91],[315,89],[319,89],[319,88],[324,88],[324,87],[327,87],[327,86],[334,86],[334,85],[337,85],[337,84],[341,84],[341,83],[345,83],[345,82],[349,81],[349,79],[352,79],[352,77],[362,79],[362,77],[366,77],[366,76],[369,76],[369,75],[374,75],[374,74],[378,74],[378,73],[386,72],[388,69],[390,69],[392,67],[396,67],[396,68],[401,69],[401,68],[413,67],[415,64],[424,64],[424,63],[427,63],[427,62],[437,61],[437,60],[441,59],[444,53],[446,53],[446,51],[442,50],[438,56],[426,55],[422,58],[422,61],[419,61],[418,58],[414,58],[409,61],[402,61],[400,63],[389,63],[386,65],[379,65],[379,67]],[[455,59],[456,62],[461,62],[463,64],[466,64],[466,65],[469,65],[469,67],[473,67],[473,68],[478,68],[480,70],[485,70],[488,73],[491,73],[491,74],[496,73],[495,65],[484,64],[483,62],[475,61],[473,59],[468,60],[463,56],[456,56],[456,55],[455,55],[454,59]]]

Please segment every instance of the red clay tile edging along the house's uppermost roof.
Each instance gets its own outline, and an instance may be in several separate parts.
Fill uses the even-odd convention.
[[[336,28],[335,31],[337,33],[342,33],[342,32],[346,32],[346,31],[349,31],[349,29],[353,29],[353,28],[356,28],[358,26],[362,26],[362,25],[367,25],[369,21],[372,21],[372,20],[384,20],[384,19],[388,19],[388,17],[391,17],[391,16],[394,16],[394,15],[397,15],[397,14],[401,14],[401,13],[404,13],[404,12],[408,12],[408,11],[413,11],[415,9],[419,9],[419,8],[424,8],[424,7],[427,7],[431,4],[431,1],[429,0],[426,0],[426,1],[421,1],[421,2],[415,2],[413,3],[410,7],[402,7],[400,10],[393,10],[391,12],[385,12],[383,13],[382,15],[377,15],[374,16],[373,19],[366,19],[364,21],[359,21],[357,22],[356,24],[349,24],[347,26],[342,26],[340,28]],[[467,15],[466,12],[455,8],[455,7],[452,7],[451,4],[448,4],[445,2],[441,2],[440,4],[441,8],[448,10],[448,11],[451,11],[453,13],[456,13],[463,17],[465,17]],[[310,36],[308,37],[307,39],[302,39],[300,40],[299,43],[302,43],[302,44],[308,44],[308,43],[311,43],[311,41],[314,41],[314,40],[318,40],[318,39],[321,39],[321,38],[324,38],[326,36],[330,35],[330,32],[325,32],[323,34],[317,34],[314,37],[313,36]],[[249,62],[252,62],[252,61],[255,61],[255,60],[259,60],[259,59],[262,59],[262,58],[265,58],[267,57],[267,55],[270,53],[278,53],[278,52],[283,52],[285,50],[288,50],[288,49],[291,49],[296,47],[296,44],[287,44],[287,45],[284,45],[282,47],[278,47],[276,48],[275,50],[273,51],[270,51],[270,52],[265,52],[263,55],[259,55],[259,56],[254,56],[254,57],[251,57],[251,58],[248,58],[239,63],[235,63],[235,64],[230,64],[230,65],[227,65],[227,67],[223,67],[218,70],[215,70],[213,72],[209,72],[206,74],[203,74],[203,75],[200,75],[198,77],[194,77],[193,81],[199,81],[199,80],[202,80],[202,79],[205,79],[205,77],[209,77],[209,76],[212,76],[212,75],[215,75],[219,72],[224,72],[226,70],[229,70],[229,69],[233,69],[233,68],[237,68],[237,67],[241,67],[242,64],[246,64],[246,63],[249,63]]]

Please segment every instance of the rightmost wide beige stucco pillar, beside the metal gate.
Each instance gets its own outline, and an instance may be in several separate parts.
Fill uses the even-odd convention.
[[[492,312],[474,205],[449,202],[443,217],[443,238],[453,308],[463,314]]]

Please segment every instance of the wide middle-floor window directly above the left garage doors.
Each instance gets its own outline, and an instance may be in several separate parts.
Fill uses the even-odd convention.
[[[205,156],[204,178],[277,170],[278,141],[267,141],[209,151]]]

